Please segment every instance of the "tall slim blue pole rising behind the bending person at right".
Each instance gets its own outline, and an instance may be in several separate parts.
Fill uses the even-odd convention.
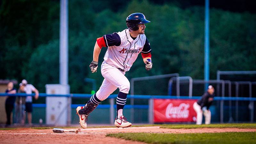
[[[209,80],[209,0],[205,0],[205,30],[204,30],[204,80]],[[207,90],[208,84],[205,84]]]

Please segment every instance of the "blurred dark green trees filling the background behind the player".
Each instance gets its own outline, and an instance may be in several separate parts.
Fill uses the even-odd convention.
[[[71,93],[90,93],[85,77],[92,74],[96,38],[126,28],[126,17],[144,13],[151,21],[145,34],[152,48],[153,68],[147,72],[142,58],[126,73],[128,79],[179,73],[204,78],[204,7],[155,4],[147,0],[69,0],[69,84]],[[117,10],[116,10],[116,9]],[[27,79],[45,92],[45,84],[59,83],[59,0],[3,1],[0,10],[0,79]],[[103,48],[99,62],[107,48]],[[217,70],[256,69],[256,14],[210,10],[210,79]]]

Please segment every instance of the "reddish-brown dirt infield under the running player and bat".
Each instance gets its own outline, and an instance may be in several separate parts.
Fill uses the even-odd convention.
[[[125,132],[147,132],[147,133],[204,133],[204,132],[256,132],[256,129],[238,128],[197,128],[197,129],[164,129],[159,126],[152,127],[130,127],[130,128],[88,128],[83,132],[54,133],[52,129],[30,129],[19,128],[13,130],[0,130],[0,143],[127,143],[139,144],[135,142],[117,138],[106,137],[108,133]]]

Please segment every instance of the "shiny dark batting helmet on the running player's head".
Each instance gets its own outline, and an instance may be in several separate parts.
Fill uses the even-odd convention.
[[[126,25],[127,28],[130,28],[131,30],[138,30],[139,27],[138,24],[144,24],[149,23],[150,21],[146,20],[144,14],[142,13],[132,13],[126,18]]]

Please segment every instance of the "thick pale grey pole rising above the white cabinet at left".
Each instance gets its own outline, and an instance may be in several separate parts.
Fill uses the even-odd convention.
[[[68,85],[68,0],[60,0],[60,84]]]

